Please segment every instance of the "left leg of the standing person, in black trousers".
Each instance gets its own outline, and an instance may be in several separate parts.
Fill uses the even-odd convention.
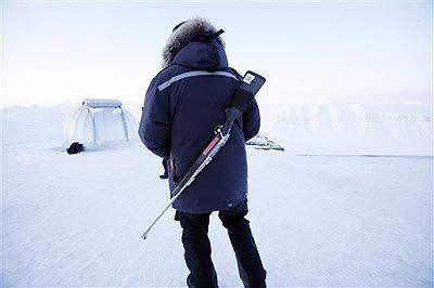
[[[187,284],[190,288],[214,288],[217,286],[217,274],[210,259],[208,239],[209,214],[193,214],[178,211],[182,226],[182,245],[190,275]]]

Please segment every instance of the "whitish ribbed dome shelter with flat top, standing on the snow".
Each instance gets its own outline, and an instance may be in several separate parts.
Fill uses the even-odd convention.
[[[63,146],[86,148],[138,139],[138,122],[119,100],[87,99],[63,125]]]

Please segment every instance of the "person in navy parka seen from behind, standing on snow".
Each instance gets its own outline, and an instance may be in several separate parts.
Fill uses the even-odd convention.
[[[139,134],[144,145],[168,159],[173,192],[196,157],[225,122],[241,77],[228,66],[225,43],[206,19],[177,25],[163,51],[163,70],[145,95]],[[232,128],[231,136],[213,161],[173,204],[182,227],[189,287],[217,287],[207,236],[209,214],[219,211],[237,256],[245,287],[266,287],[266,271],[257,251],[247,214],[245,142],[257,134],[260,118],[256,101]]]

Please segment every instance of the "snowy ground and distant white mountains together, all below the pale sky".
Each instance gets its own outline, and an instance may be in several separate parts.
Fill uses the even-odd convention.
[[[174,211],[140,238],[168,200],[159,159],[62,152],[73,106],[3,109],[2,286],[184,286]],[[433,286],[432,107],[267,106],[263,133],[285,147],[248,149],[270,287]],[[220,286],[242,286],[216,215],[209,237]]]

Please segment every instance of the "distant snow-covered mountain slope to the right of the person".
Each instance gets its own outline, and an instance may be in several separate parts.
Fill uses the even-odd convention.
[[[271,105],[264,127],[286,133],[431,138],[433,108],[423,105]],[[272,130],[272,129],[271,129]]]

